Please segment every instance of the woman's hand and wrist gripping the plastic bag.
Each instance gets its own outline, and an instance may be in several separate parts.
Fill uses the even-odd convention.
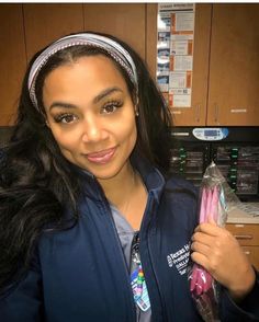
[[[239,243],[226,229],[214,221],[199,225],[191,249],[193,262],[225,286],[234,300],[241,300],[252,289],[256,274]]]

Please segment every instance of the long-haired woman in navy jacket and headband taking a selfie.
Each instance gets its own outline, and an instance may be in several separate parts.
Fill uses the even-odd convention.
[[[195,189],[167,175],[169,119],[112,36],[70,35],[33,59],[1,162],[1,321],[201,321],[190,249],[223,285],[222,321],[259,319],[238,243],[195,228]]]

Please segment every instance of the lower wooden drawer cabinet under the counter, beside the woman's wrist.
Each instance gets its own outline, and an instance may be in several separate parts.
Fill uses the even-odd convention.
[[[227,223],[226,229],[235,235],[250,263],[259,269],[259,225]]]

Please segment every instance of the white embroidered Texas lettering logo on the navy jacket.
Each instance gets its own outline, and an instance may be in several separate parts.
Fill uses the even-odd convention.
[[[190,256],[190,244],[185,244],[179,251],[169,254],[167,256],[167,262],[169,267],[172,267],[174,265],[178,272],[181,275],[183,275],[187,273],[189,256]]]

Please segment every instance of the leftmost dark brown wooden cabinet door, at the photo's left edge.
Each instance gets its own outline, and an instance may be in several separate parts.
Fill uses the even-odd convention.
[[[22,4],[0,4],[0,126],[12,125],[26,68]]]

